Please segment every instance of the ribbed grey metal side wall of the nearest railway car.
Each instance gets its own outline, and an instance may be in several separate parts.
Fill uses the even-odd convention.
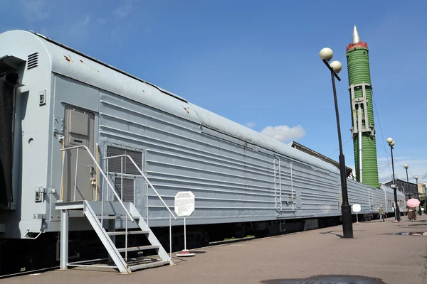
[[[100,135],[101,145],[115,143],[144,149],[144,171],[169,207],[173,208],[176,192],[194,192],[196,211],[192,220],[238,222],[243,217],[277,217],[273,153],[110,94],[101,94]],[[291,159],[281,159],[283,211],[279,215],[338,212],[338,175],[292,160],[292,198]],[[152,190],[148,198],[150,226],[156,226],[156,220],[169,220]]]

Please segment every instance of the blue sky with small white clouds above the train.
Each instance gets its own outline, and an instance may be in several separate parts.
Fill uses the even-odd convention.
[[[332,85],[318,55],[330,47],[343,64],[337,93],[352,168],[345,48],[357,25],[370,52],[380,180],[391,179],[385,141],[391,136],[396,177],[405,177],[408,163],[410,176],[427,182],[425,1],[0,3],[1,32],[43,33],[221,116],[338,160]]]

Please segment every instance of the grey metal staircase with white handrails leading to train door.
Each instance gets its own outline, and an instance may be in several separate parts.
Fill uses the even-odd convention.
[[[151,182],[147,179],[147,177],[142,173],[142,170],[137,166],[135,161],[129,156],[129,155],[117,155],[112,157],[106,157],[104,160],[109,160],[112,158],[128,158],[134,165],[137,170],[139,170],[139,173],[142,175],[142,177],[147,181],[149,187],[154,190],[157,197],[163,202],[164,207],[167,208],[169,211],[169,247],[171,248],[171,253],[168,255],[167,251],[164,250],[162,244],[160,244],[159,240],[156,236],[154,236],[152,230],[149,228],[147,222],[144,221],[141,214],[139,214],[137,208],[132,202],[122,202],[122,199],[117,194],[114,187],[112,187],[110,181],[107,178],[107,175],[102,171],[100,168],[100,165],[96,162],[93,155],[90,153],[89,149],[86,146],[75,146],[70,148],[64,148],[61,151],[68,151],[71,149],[79,150],[79,148],[84,148],[90,157],[92,158],[93,162],[97,166],[97,169],[99,170],[102,177],[107,182],[107,192],[109,189],[112,190],[114,193],[117,201],[105,201],[104,200],[104,192],[102,190],[102,199],[101,201],[89,201],[89,200],[82,200],[82,201],[72,201],[72,202],[58,202],[56,204],[56,209],[60,210],[60,269],[67,269],[68,266],[89,266],[89,267],[110,267],[110,268],[117,268],[120,273],[132,273],[132,271],[137,271],[144,268],[152,268],[157,266],[164,266],[167,264],[173,264],[172,262],[172,224],[171,224],[171,217],[173,217],[176,220],[176,217],[172,213],[172,211],[169,209],[167,204],[164,202],[162,197],[160,197],[157,190],[154,189]],[[77,154],[78,157],[78,154]],[[64,163],[64,162],[63,162]],[[77,163],[77,162],[76,162]],[[64,167],[63,167],[64,168]],[[77,175],[77,171],[75,172]],[[62,173],[62,179],[63,179],[63,173]],[[62,180],[61,180],[62,184]],[[75,195],[74,195],[75,196]],[[73,263],[68,262],[68,218],[70,214],[73,214],[71,212],[75,211],[83,211],[83,215],[88,219],[91,226],[93,226],[93,229],[95,230],[97,236],[100,238],[100,241],[105,246],[105,249],[107,249],[107,253],[110,256],[111,261],[115,263],[115,266],[109,266],[109,265],[93,265],[93,264],[87,264],[87,263],[94,263],[103,261],[102,258],[93,259],[90,261],[77,261]],[[103,224],[104,220],[108,220],[110,222],[109,230],[105,230]],[[135,222],[136,221],[136,222]],[[114,222],[111,224],[111,222]],[[124,231],[115,231],[115,222],[125,222],[125,230]],[[136,223],[136,224],[135,224]],[[136,230],[130,230],[130,229],[136,229]],[[147,236],[147,240],[149,241],[149,245],[147,246],[133,246],[128,247],[127,246],[127,236],[128,235],[135,235],[135,234],[144,234]],[[115,236],[125,236],[125,247],[124,248],[117,248],[115,246]],[[127,258],[127,253],[130,251],[156,251],[157,256],[159,256],[159,259],[153,260],[152,258]],[[125,253],[125,257],[122,256],[121,253]],[[86,263],[86,264],[85,264]]]

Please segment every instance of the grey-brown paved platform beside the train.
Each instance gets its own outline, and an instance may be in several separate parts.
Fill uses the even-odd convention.
[[[354,239],[342,239],[339,236],[342,226],[334,226],[203,248],[193,251],[194,257],[174,258],[175,266],[151,268],[131,275],[74,268],[6,278],[0,282],[239,284],[344,274],[379,278],[387,284],[427,284],[427,236],[388,234],[427,232],[427,215],[417,218],[426,222],[409,222],[407,217],[402,217],[399,224],[393,223],[393,218],[384,223],[375,220],[354,224]]]

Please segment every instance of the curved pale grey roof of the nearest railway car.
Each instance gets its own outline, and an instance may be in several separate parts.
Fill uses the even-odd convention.
[[[38,50],[46,50],[46,53],[48,53],[48,57],[46,58],[49,58],[51,62],[47,62],[47,59],[45,62],[39,60],[38,65],[51,65],[53,73],[90,84],[122,97],[127,97],[127,99],[132,99],[135,102],[147,104],[149,107],[166,111],[182,119],[194,121],[196,124],[200,124],[208,129],[214,129],[215,131],[246,141],[260,148],[287,155],[290,158],[324,170],[339,173],[339,170],[330,163],[326,163],[319,158],[292,148],[288,144],[265,136],[258,131],[249,129],[246,126],[214,114],[195,104],[191,104],[191,102],[187,102],[186,99],[172,92],[141,80],[105,62],[91,58],[89,55],[80,53],[78,50],[69,48],[39,33],[21,30],[6,31],[0,34],[0,45],[4,40],[13,40],[16,43],[25,42],[27,46],[33,46],[34,53],[38,52]],[[16,44],[15,48],[19,48],[19,44]],[[13,53],[13,50],[10,53]],[[1,56],[3,55],[0,55],[0,58]],[[21,60],[27,60],[27,58],[21,58]]]

